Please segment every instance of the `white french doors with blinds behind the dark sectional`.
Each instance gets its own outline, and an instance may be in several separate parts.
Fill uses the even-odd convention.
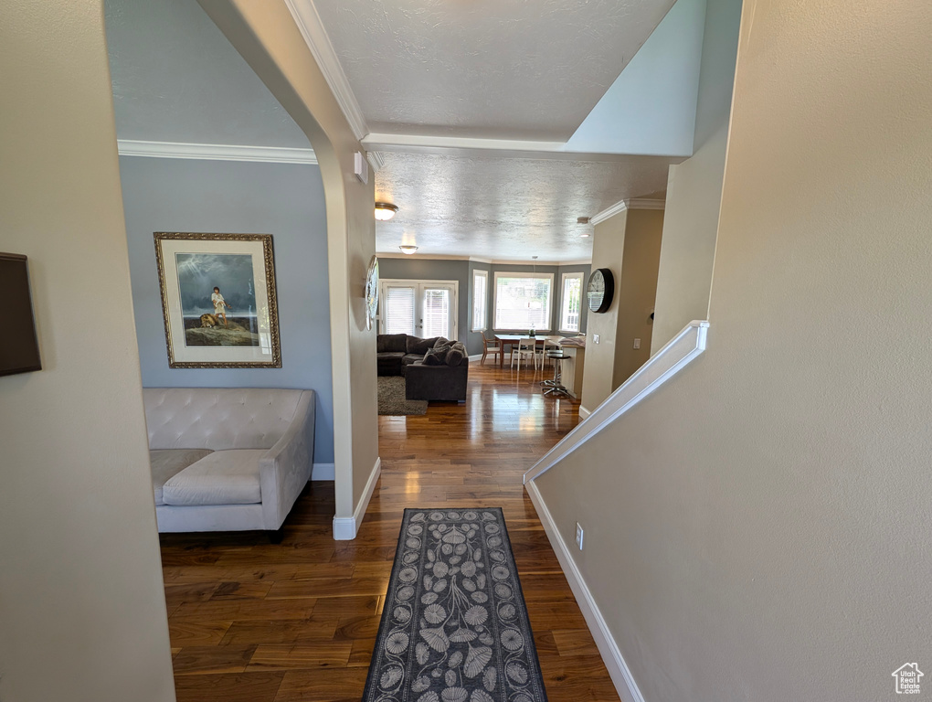
[[[378,296],[382,334],[457,337],[459,283],[383,280]]]

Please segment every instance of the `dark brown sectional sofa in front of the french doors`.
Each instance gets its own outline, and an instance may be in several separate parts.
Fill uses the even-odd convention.
[[[378,375],[404,376],[408,400],[466,401],[469,353],[444,337],[379,334]]]

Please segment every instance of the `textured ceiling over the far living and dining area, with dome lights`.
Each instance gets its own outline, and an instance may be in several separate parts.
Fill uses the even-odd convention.
[[[606,161],[466,158],[386,153],[377,173],[377,200],[399,206],[376,223],[376,250],[399,254],[405,243],[418,255],[493,260],[583,260],[592,238],[577,217],[592,216],[619,200],[666,188],[670,163],[681,158],[624,157]]]

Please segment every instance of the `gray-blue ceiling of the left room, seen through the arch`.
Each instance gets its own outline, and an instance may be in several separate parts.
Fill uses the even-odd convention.
[[[117,137],[308,148],[195,0],[105,0]]]

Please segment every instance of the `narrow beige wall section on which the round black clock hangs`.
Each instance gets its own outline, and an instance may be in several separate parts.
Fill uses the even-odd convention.
[[[618,289],[624,257],[624,227],[629,211],[624,210],[599,222],[593,233],[592,270],[609,268],[615,279],[611,307],[602,314],[589,313],[586,325],[586,353],[583,365],[583,394],[580,404],[590,412],[601,405],[612,391],[615,373],[615,336],[618,334]],[[585,283],[588,283],[586,279]],[[583,304],[585,304],[583,289]],[[598,335],[598,343],[595,342]]]

